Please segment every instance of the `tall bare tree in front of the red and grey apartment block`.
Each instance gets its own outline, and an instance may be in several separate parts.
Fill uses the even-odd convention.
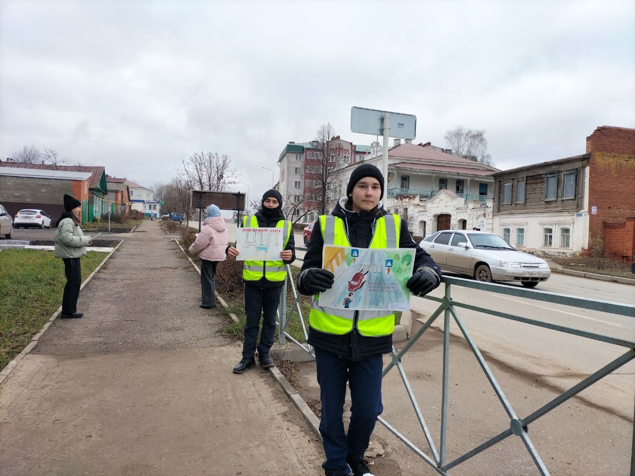
[[[311,185],[305,185],[305,201],[307,209],[319,209],[323,215],[331,206],[335,190],[331,190],[331,182],[339,168],[344,166],[344,159],[338,157],[334,147],[335,129],[330,122],[322,124],[316,132],[314,143],[319,152],[309,152],[305,178]],[[308,199],[306,198],[308,195]]]

